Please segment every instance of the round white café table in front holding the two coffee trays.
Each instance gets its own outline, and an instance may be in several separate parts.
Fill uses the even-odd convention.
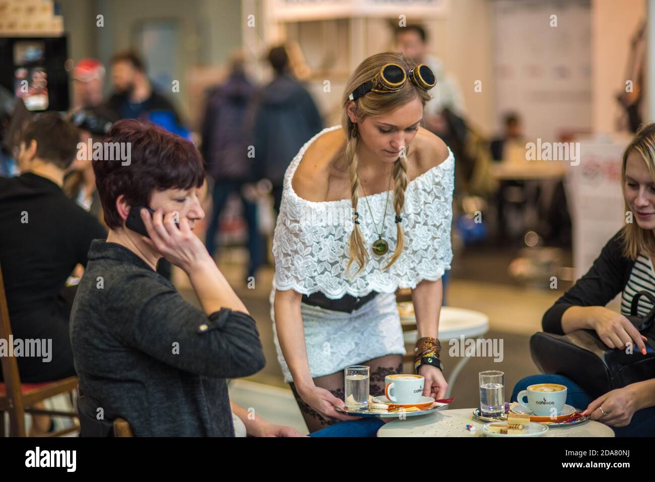
[[[482,426],[487,423],[473,417],[474,409],[440,410],[421,417],[395,419],[377,431],[378,437],[485,437]],[[476,427],[466,430],[466,424]],[[614,437],[614,431],[601,422],[551,428],[544,437]]]

